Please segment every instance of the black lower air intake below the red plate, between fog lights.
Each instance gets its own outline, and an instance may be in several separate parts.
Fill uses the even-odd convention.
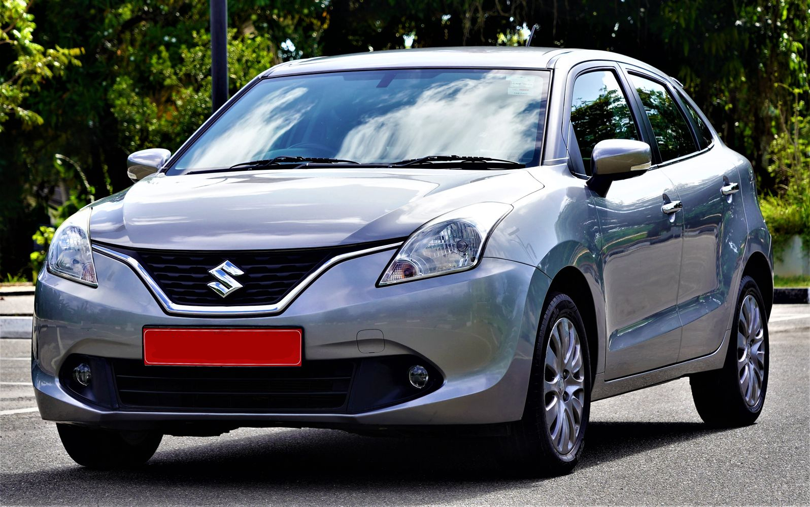
[[[345,412],[355,372],[352,360],[308,361],[294,368],[112,363],[122,408],[139,410]]]

